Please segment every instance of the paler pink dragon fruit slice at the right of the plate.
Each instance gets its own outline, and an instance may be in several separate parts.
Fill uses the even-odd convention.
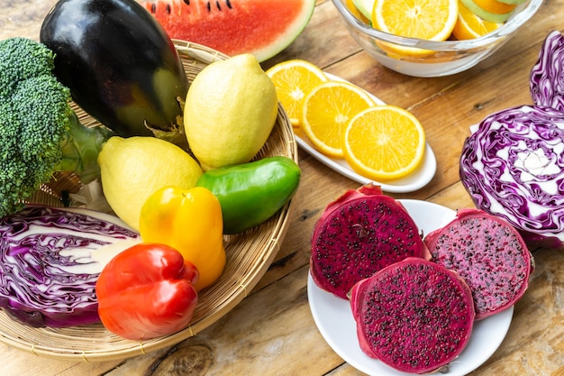
[[[531,252],[505,220],[479,209],[460,209],[450,224],[427,234],[432,261],[453,270],[472,290],[476,319],[511,307],[528,286]]]

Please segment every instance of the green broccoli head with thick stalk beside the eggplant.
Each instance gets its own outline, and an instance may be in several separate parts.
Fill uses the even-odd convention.
[[[79,123],[53,68],[45,45],[0,41],[0,217],[21,210],[55,172],[75,172],[83,183],[99,176],[98,152],[113,133]]]

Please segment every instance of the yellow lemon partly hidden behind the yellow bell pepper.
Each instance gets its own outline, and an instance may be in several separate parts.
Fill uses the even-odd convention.
[[[112,137],[98,164],[108,204],[138,231],[141,207],[152,193],[165,186],[193,188],[203,173],[186,151],[155,137]]]

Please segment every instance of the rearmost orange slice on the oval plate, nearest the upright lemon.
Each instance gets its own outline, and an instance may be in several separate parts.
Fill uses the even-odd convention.
[[[290,123],[299,127],[305,93],[328,81],[323,70],[306,60],[287,60],[267,70],[274,82],[278,100],[287,112]]]

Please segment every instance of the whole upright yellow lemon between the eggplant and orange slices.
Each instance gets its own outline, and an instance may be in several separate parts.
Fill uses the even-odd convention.
[[[202,169],[251,160],[276,123],[277,106],[276,87],[251,54],[202,69],[184,107],[186,140]]]

